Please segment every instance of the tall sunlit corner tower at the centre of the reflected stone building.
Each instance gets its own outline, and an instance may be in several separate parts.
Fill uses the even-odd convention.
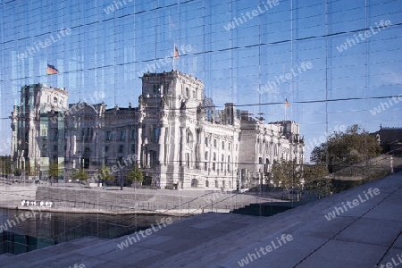
[[[180,71],[148,72],[141,80],[139,164],[150,183],[180,188],[184,169],[197,165],[197,108],[203,104],[204,84]]]

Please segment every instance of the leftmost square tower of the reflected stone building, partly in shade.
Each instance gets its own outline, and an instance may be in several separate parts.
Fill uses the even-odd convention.
[[[14,105],[12,119],[12,159],[16,168],[36,174],[48,170],[49,160],[63,170],[64,126],[67,90],[43,84],[21,88],[21,105]],[[54,120],[50,120],[54,118]]]

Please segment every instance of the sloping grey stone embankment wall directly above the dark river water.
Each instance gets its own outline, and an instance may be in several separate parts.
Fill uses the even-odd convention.
[[[138,189],[137,189],[138,190]],[[86,210],[107,213],[166,213],[200,214],[203,212],[229,212],[255,202],[255,197],[236,193],[194,192],[176,190],[142,190],[132,188],[103,190],[101,188],[38,187],[37,200],[54,202],[54,209],[63,211]]]

